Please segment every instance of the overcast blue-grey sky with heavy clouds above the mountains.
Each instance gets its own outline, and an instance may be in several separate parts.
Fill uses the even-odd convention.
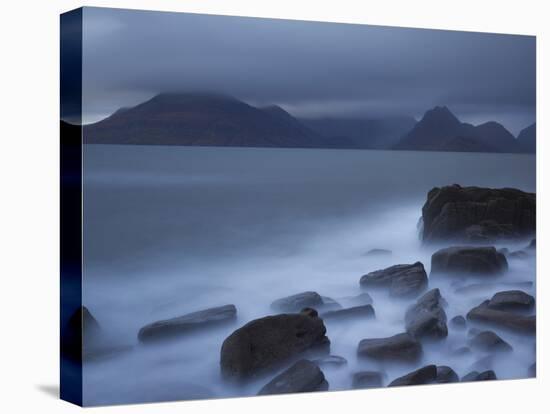
[[[514,134],[535,121],[535,38],[86,8],[84,122],[160,92],[213,91],[296,116],[447,105]]]

